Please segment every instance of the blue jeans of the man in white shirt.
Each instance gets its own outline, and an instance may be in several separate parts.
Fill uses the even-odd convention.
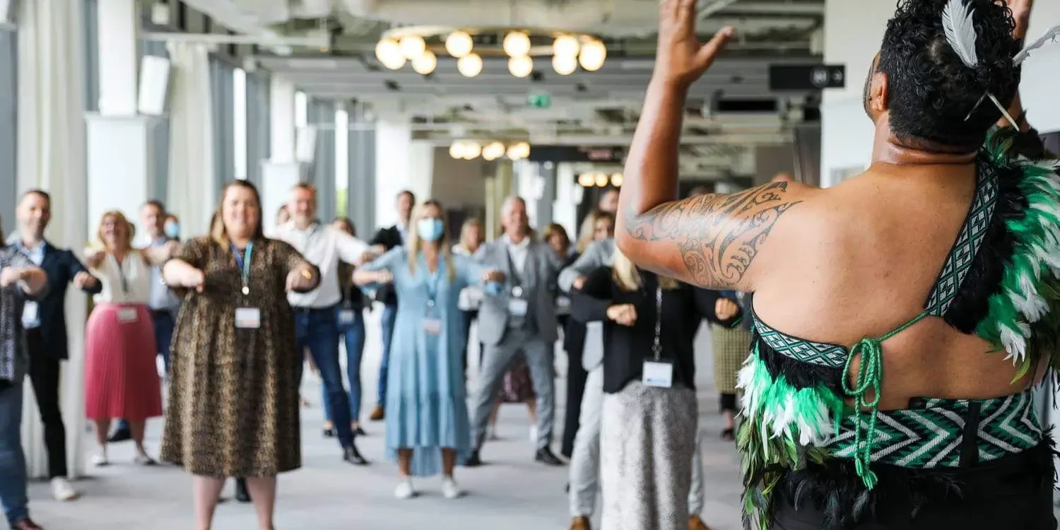
[[[353,445],[350,428],[350,401],[342,387],[342,371],[338,365],[338,317],[335,307],[320,310],[295,308],[297,352],[310,349],[313,363],[323,379],[325,406],[335,422],[335,434],[342,447]]]

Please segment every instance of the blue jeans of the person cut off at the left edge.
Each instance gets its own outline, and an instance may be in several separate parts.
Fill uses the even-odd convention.
[[[22,453],[22,384],[0,390],[0,505],[7,524],[30,516]]]

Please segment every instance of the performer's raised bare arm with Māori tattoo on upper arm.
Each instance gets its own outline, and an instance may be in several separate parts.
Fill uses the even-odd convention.
[[[745,275],[777,219],[797,204],[787,182],[734,195],[677,197],[677,152],[688,87],[732,28],[701,45],[695,1],[664,0],[655,72],[625,162],[615,242],[637,265],[701,287],[748,290]]]

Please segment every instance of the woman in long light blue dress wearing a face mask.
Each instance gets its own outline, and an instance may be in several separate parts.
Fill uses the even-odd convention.
[[[460,290],[502,280],[502,273],[449,252],[441,205],[428,200],[413,212],[408,244],[354,273],[357,285],[393,282],[401,304],[390,347],[387,379],[387,458],[396,460],[399,498],[416,495],[412,476],[443,475],[442,493],[460,496],[453,469],[471,453],[464,391],[467,342]]]

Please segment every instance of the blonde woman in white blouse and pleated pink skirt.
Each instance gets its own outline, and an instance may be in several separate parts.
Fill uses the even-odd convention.
[[[137,250],[132,224],[111,210],[100,218],[96,241],[85,250],[86,263],[100,279],[95,307],[85,330],[85,416],[95,424],[95,465],[107,465],[107,432],[114,419],[128,421],[136,442],[135,461],[152,465],[143,446],[148,418],[162,416],[162,390],[155,364],[151,310],[151,267],[169,259],[177,244]]]

